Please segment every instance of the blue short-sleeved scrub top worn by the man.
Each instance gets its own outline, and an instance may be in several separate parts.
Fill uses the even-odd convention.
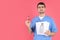
[[[36,22],[44,22],[44,21],[47,21],[50,23],[49,30],[51,32],[57,32],[55,22],[51,17],[45,16],[42,20],[40,20],[39,16],[36,16],[35,18],[32,19],[31,25],[30,25],[32,32],[34,32],[34,40],[51,40],[51,36],[37,35]]]

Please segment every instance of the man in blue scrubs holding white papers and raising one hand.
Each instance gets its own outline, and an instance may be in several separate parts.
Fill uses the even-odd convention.
[[[34,40],[52,40],[51,37],[57,32],[53,19],[45,15],[45,9],[46,5],[39,2],[37,4],[38,16],[33,18],[32,21],[28,18],[25,22],[29,32],[34,33]]]

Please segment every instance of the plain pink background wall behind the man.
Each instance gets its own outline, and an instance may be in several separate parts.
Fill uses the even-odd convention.
[[[0,40],[32,40],[33,34],[25,25],[27,16],[36,16],[36,5],[42,0],[0,0]],[[43,0],[46,4],[46,15],[51,16],[57,25],[58,32],[53,40],[60,40],[60,0]]]

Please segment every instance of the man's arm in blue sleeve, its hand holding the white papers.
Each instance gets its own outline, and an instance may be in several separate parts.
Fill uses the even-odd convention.
[[[46,31],[45,34],[54,36],[57,32],[57,27],[53,19],[51,19],[50,22],[51,22],[51,30]]]

